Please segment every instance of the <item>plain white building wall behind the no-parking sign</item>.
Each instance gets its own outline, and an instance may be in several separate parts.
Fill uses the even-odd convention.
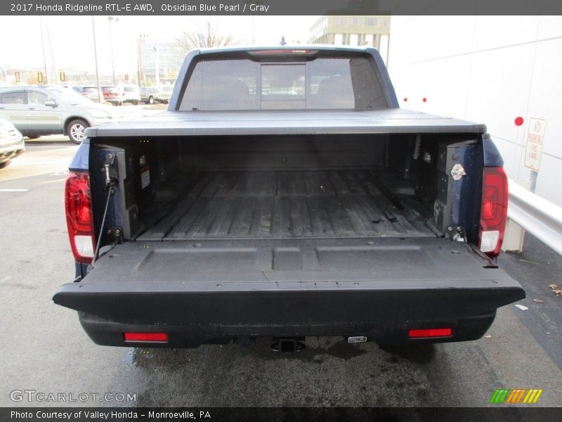
[[[546,120],[535,192],[562,205],[562,16],[393,16],[388,54],[400,106],[485,123],[513,179]]]

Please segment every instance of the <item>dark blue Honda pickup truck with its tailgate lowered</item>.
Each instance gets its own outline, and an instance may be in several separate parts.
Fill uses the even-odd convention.
[[[53,300],[100,345],[475,340],[525,298],[502,164],[485,125],[400,109],[375,49],[191,51],[166,112],[87,129]]]

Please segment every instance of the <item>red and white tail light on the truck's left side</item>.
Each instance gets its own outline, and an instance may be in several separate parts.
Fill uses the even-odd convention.
[[[70,172],[65,186],[66,224],[72,254],[77,262],[91,264],[96,238],[93,232],[90,177]]]

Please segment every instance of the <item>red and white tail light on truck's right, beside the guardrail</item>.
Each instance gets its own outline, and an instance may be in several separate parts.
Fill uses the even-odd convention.
[[[502,248],[507,200],[507,176],[503,167],[484,167],[478,245],[490,257],[497,257]]]

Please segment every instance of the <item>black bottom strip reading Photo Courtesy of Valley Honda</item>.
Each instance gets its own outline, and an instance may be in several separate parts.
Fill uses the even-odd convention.
[[[560,408],[403,407],[4,407],[0,420],[25,422],[558,422]]]

